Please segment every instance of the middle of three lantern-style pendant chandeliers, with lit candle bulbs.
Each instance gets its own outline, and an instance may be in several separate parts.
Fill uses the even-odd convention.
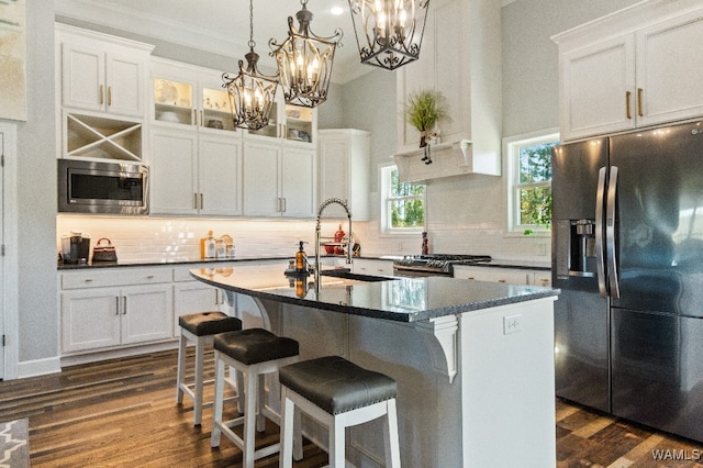
[[[308,0],[300,3],[303,8],[295,13],[299,27],[295,29],[292,16],[288,16],[288,38],[280,45],[271,38],[269,45],[286,102],[314,108],[327,99],[334,52],[342,40],[342,30],[335,30],[331,37],[314,35],[310,31],[313,14],[305,7]]]

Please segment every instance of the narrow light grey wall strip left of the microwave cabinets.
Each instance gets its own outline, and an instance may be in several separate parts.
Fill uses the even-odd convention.
[[[19,374],[57,365],[54,2],[26,2],[27,121],[18,126]],[[13,202],[10,200],[10,202]],[[12,312],[11,312],[12,313]],[[10,344],[11,346],[13,344]]]

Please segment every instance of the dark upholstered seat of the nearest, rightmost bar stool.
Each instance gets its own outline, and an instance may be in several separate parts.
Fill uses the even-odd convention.
[[[398,395],[398,383],[383,374],[327,356],[286,366],[279,371],[281,385],[330,414],[386,401]]]

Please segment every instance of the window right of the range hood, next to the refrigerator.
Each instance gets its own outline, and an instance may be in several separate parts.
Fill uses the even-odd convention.
[[[551,226],[551,148],[558,144],[553,131],[505,140],[509,231],[546,233]]]

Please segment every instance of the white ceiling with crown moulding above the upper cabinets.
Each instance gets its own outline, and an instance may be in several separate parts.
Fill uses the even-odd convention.
[[[333,15],[331,9],[343,13]],[[268,56],[269,38],[280,44],[288,34],[288,16],[301,9],[299,0],[254,0],[255,51],[259,65],[272,67]],[[236,59],[248,52],[249,2],[247,0],[56,0],[57,16],[69,18],[100,26],[154,37],[196,49]],[[310,0],[313,14],[311,31],[319,36],[332,36],[339,27],[343,46],[335,52],[332,79],[344,83],[370,71],[373,67],[359,63],[354,25],[347,0]],[[295,26],[298,21],[294,21]]]

